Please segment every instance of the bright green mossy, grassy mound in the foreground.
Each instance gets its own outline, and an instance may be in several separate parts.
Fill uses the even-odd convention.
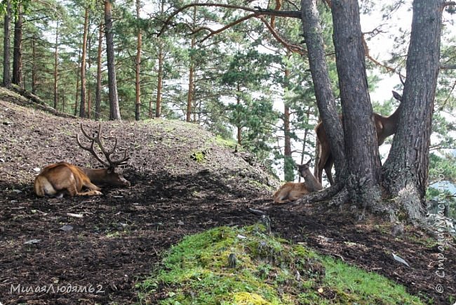
[[[422,304],[387,278],[290,245],[261,225],[187,236],[137,288],[140,304]]]

